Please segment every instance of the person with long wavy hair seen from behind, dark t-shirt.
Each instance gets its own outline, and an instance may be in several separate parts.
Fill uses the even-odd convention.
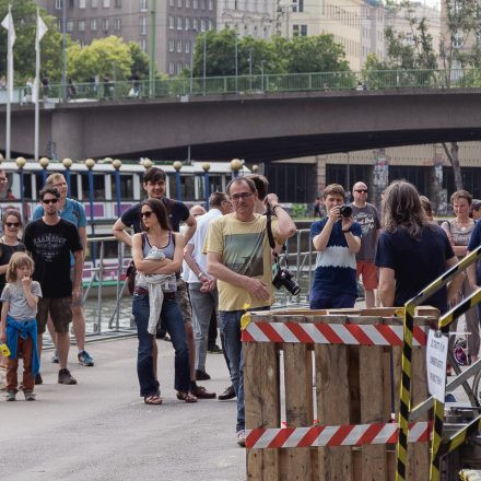
[[[418,190],[412,184],[396,180],[385,191],[382,204],[384,231],[379,236],[376,266],[379,268],[379,297],[386,307],[402,306],[457,259],[443,230],[429,222]],[[456,295],[462,278],[449,285],[449,298]],[[446,288],[425,301],[445,313]]]

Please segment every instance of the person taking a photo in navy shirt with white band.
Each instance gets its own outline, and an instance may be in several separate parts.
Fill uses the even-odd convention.
[[[355,255],[361,248],[362,227],[353,221],[352,213],[341,215],[344,198],[342,186],[327,186],[324,203],[328,216],[310,226],[317,250],[312,309],[353,307],[357,298]]]

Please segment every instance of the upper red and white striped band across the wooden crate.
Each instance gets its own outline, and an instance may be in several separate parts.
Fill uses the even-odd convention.
[[[414,327],[413,345],[426,344],[427,327]],[[320,322],[249,322],[243,342],[301,342],[305,344],[402,345],[403,327]]]

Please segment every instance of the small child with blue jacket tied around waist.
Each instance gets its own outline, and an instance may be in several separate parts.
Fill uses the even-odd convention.
[[[7,401],[14,401],[19,380],[17,351],[23,353],[23,394],[26,401],[35,401],[35,375],[39,372],[37,350],[38,297],[42,297],[40,284],[32,281],[34,261],[25,253],[15,253],[7,268],[7,285],[2,301],[0,343],[7,341],[10,357],[7,364]]]

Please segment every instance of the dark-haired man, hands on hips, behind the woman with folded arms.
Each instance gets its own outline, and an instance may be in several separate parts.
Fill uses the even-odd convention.
[[[185,222],[187,224],[187,228],[184,231],[183,235],[185,238],[185,244],[190,241],[193,233],[196,232],[197,223],[196,218],[190,214],[184,202],[179,202],[178,200],[167,199],[164,197],[165,188],[166,188],[167,176],[162,168],[151,167],[143,175],[143,188],[146,191],[149,199],[160,199],[164,202],[165,208],[167,209],[168,220],[171,222],[171,226],[174,232],[179,232],[180,222]],[[127,209],[120,219],[117,219],[116,223],[113,227],[113,233],[118,241],[127,244],[128,246],[132,246],[132,239],[128,232],[126,232],[127,227],[132,227],[133,232],[137,234],[142,231],[140,226],[140,206],[141,202],[138,202]],[[189,345],[189,363],[190,363],[190,380],[191,380],[191,392],[198,398],[210,399],[214,398],[215,395],[213,392],[208,392],[202,386],[198,386],[196,384],[196,373],[195,373],[195,364],[196,364],[196,342],[193,340],[193,328],[192,328],[192,310],[190,307],[190,301],[188,297],[187,285],[186,283],[178,278],[177,279],[177,292],[176,292],[177,303],[180,307],[180,312],[184,317],[186,335],[187,335],[187,343]],[[154,342],[153,356],[154,356],[154,365],[156,365],[156,343]],[[199,379],[197,379],[199,380]]]

